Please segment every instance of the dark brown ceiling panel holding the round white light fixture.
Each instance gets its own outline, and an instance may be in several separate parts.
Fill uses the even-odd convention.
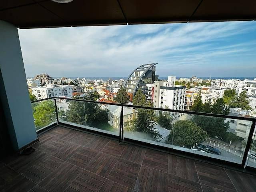
[[[126,23],[117,0],[74,0],[67,4],[40,2],[73,26],[92,23]]]

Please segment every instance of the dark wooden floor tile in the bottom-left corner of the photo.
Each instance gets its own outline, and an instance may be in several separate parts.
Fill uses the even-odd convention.
[[[27,192],[35,185],[34,182],[19,174],[4,186],[3,192]]]

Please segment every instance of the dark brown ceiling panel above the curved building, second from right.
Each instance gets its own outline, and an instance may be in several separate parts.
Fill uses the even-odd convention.
[[[200,0],[120,0],[128,22],[186,22]]]

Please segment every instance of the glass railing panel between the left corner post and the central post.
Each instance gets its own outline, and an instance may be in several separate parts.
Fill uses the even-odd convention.
[[[119,135],[121,107],[74,100],[57,100],[59,122]]]

